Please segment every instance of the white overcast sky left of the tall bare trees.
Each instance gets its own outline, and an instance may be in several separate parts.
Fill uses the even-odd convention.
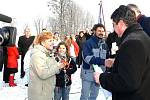
[[[0,0],[0,13],[15,18],[18,34],[22,34],[26,24],[33,26],[37,16],[48,14],[47,0]],[[35,31],[34,29],[31,29]]]

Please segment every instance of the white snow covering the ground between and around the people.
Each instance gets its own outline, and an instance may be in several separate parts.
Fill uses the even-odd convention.
[[[20,70],[20,69],[19,69]],[[8,84],[2,82],[2,72],[0,72],[0,100],[28,100],[27,87],[24,86],[24,79],[20,78],[20,72],[15,75],[16,87],[9,87]],[[72,75],[72,87],[70,91],[70,100],[80,100],[81,79],[80,68]],[[111,100],[111,96],[104,95],[104,90],[100,89],[97,100]],[[105,98],[107,97],[107,99]]]

